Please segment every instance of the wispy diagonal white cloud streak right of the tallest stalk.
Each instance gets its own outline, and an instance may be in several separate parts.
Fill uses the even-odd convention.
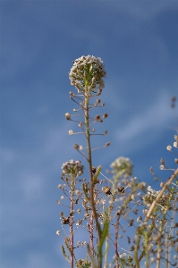
[[[167,105],[168,99],[169,96],[163,90],[153,105],[148,105],[145,111],[134,115],[123,128],[117,128],[114,131],[114,139],[125,148],[128,143],[131,143],[133,147],[148,146],[150,142],[158,138],[160,132],[173,119],[172,111]]]

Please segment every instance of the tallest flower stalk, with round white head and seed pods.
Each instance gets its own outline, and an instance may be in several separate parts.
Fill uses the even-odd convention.
[[[94,203],[95,180],[92,170],[92,155],[91,155],[92,149],[91,149],[90,138],[92,135],[94,135],[93,132],[95,132],[94,129],[91,130],[91,125],[95,124],[96,122],[102,122],[103,119],[101,118],[100,115],[96,115],[95,118],[92,118],[89,112],[95,107],[103,106],[99,105],[100,99],[97,99],[97,101],[94,104],[91,104],[90,101],[93,97],[101,95],[102,88],[104,88],[105,85],[103,80],[105,76],[106,71],[101,59],[90,55],[82,56],[81,58],[75,60],[73,62],[72,69],[69,73],[71,84],[75,86],[75,88],[79,93],[79,95],[71,93],[71,98],[75,103],[77,103],[76,100],[78,99],[81,100],[81,102],[78,103],[80,105],[80,109],[78,109],[77,111],[81,110],[84,116],[84,121],[80,121],[79,125],[83,130],[83,133],[85,134],[87,140],[87,156],[84,154],[84,152],[82,152],[81,154],[85,156],[89,164],[89,195],[87,192],[85,192],[85,188],[83,188],[83,190],[85,192],[85,197],[87,198],[89,204],[91,205],[93,217],[95,219],[95,224],[97,227],[98,248],[101,246],[102,230],[98,221],[96,205]],[[106,117],[107,114],[105,113],[103,118]],[[71,116],[70,120],[72,120]],[[103,135],[106,135],[106,133],[104,133]],[[109,143],[106,144],[106,146],[108,145]],[[75,145],[75,148],[79,150],[80,147],[78,147],[78,145]],[[90,219],[90,224],[91,227],[93,228],[92,218]],[[92,237],[93,237],[92,230],[90,230],[91,248],[89,250],[91,250],[92,254],[94,255]],[[98,267],[99,268],[102,267],[102,252],[100,250],[98,250],[97,252],[97,260],[98,260]]]

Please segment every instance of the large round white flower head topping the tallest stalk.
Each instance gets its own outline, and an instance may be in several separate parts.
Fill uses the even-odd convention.
[[[105,88],[105,82],[102,79],[104,77],[106,77],[106,71],[103,61],[93,55],[76,59],[69,73],[71,85],[81,91],[85,91],[86,87],[94,90],[97,85],[98,88]]]

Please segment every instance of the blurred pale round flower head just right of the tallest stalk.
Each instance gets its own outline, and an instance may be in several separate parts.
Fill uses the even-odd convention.
[[[115,159],[114,162],[111,163],[110,167],[113,168],[114,173],[122,172],[125,173],[126,175],[131,175],[133,165],[129,158],[122,156]]]

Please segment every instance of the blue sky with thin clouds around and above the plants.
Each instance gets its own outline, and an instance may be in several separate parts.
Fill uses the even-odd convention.
[[[1,258],[2,268],[68,267],[61,255],[61,165],[81,159],[64,113],[68,73],[81,55],[106,66],[102,126],[94,163],[103,172],[118,156],[134,175],[152,181],[160,158],[174,166],[178,84],[177,1],[0,1],[1,30]],[[177,110],[176,110],[177,111]],[[162,172],[161,174],[164,173]],[[165,177],[166,179],[166,177]]]

